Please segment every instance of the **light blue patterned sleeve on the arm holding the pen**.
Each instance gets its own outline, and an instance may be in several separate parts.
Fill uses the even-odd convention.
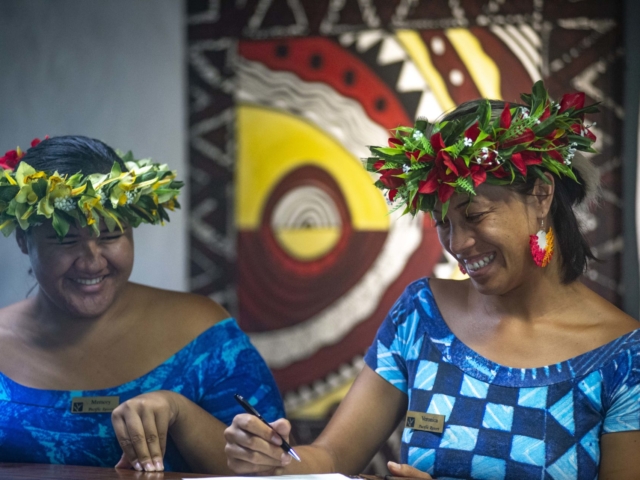
[[[418,325],[418,312],[413,305],[407,289],[391,307],[364,357],[372,370],[404,393],[407,393],[407,359]]]

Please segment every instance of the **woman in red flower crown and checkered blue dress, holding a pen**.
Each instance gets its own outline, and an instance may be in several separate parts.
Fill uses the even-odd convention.
[[[585,287],[574,207],[592,200],[584,94],[478,100],[399,127],[366,168],[392,208],[432,216],[468,278],[410,284],[320,437],[296,447],[250,416],[225,431],[237,473],[358,473],[399,422],[394,476],[640,478],[640,330]],[[286,420],[273,426],[285,437]]]

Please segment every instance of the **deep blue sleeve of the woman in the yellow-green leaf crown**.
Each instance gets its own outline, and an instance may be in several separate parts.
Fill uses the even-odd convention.
[[[233,320],[216,332],[202,362],[198,379],[198,405],[229,425],[244,410],[234,399],[242,395],[262,416],[272,422],[283,418],[284,407],[276,382],[260,353]]]

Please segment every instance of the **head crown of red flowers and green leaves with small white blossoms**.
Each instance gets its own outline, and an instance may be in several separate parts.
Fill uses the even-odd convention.
[[[414,127],[398,127],[388,147],[369,147],[373,157],[365,167],[380,174],[375,185],[396,209],[404,206],[404,213],[414,215],[431,212],[438,200],[444,216],[454,192],[475,195],[485,182],[508,185],[529,174],[548,182],[545,170],[577,182],[571,162],[577,150],[595,152],[584,114],[597,108],[585,108],[580,92],[554,103],[541,81],[521,98],[525,106],[507,103],[494,119],[485,100],[455,120],[418,119]]]

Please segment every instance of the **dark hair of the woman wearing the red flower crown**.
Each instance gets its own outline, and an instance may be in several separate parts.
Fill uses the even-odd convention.
[[[454,120],[476,111],[483,100],[472,100],[462,103],[455,110],[442,116],[441,120]],[[505,103],[501,100],[489,100],[491,105],[491,116],[496,118],[504,109]],[[524,106],[517,103],[510,103],[511,106]],[[441,121],[440,120],[440,121]],[[551,173],[551,172],[549,172]],[[577,168],[573,169],[578,182],[574,182],[568,177],[559,177],[553,173],[554,193],[551,202],[551,218],[556,239],[556,248],[560,252],[562,260],[562,283],[571,283],[580,277],[587,268],[589,260],[596,260],[591,251],[584,234],[580,230],[578,219],[573,207],[582,202],[586,195],[586,181]],[[508,188],[512,188],[523,195],[532,195],[536,179],[538,177],[530,175],[524,183],[514,183]]]

